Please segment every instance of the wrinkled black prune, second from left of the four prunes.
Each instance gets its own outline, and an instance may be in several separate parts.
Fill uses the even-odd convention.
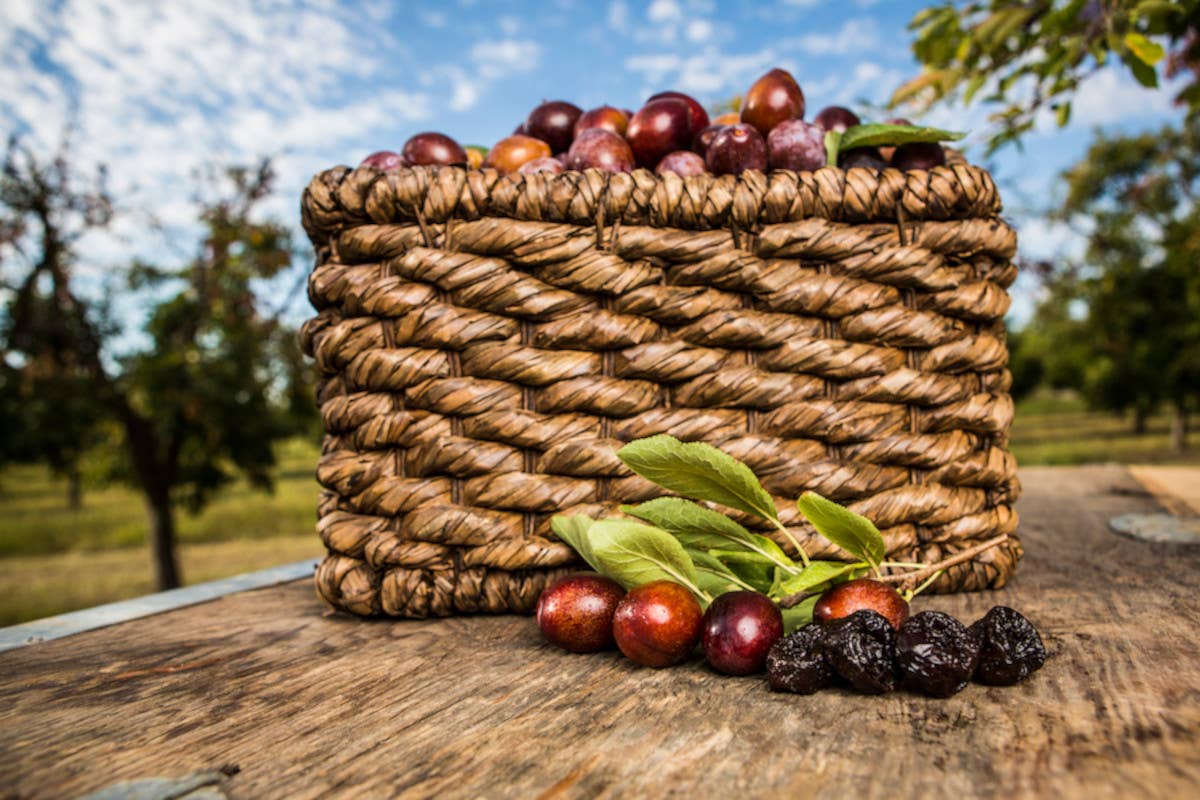
[[[882,694],[895,688],[895,628],[874,610],[826,622],[824,654],[854,690]]]

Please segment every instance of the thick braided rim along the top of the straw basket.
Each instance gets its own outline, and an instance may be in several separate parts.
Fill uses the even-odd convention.
[[[823,167],[688,178],[647,169],[502,175],[462,167],[384,173],[343,166],[317,173],[301,199],[301,221],[317,247],[361,224],[426,225],[484,217],[756,231],[812,218],[902,224],[994,218],[1001,210],[991,174],[966,163],[910,172]]]

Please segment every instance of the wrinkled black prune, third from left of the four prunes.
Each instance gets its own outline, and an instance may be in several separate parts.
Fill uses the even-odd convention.
[[[949,697],[967,685],[978,661],[979,643],[949,614],[913,614],[896,633],[896,666],[905,688]]]

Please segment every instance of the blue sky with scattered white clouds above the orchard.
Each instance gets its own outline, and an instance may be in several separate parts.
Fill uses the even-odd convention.
[[[907,23],[928,4],[901,0],[4,0],[0,136],[50,154],[71,132],[79,166],[103,163],[121,213],[80,245],[102,273],[131,255],[178,264],[196,251],[198,179],[212,166],[274,158],[265,210],[299,227],[311,176],[398,150],[420,131],[491,145],[542,100],[638,107],[676,89],[704,104],[781,66],[810,113],[881,106],[919,67]],[[919,121],[970,131],[982,158],[985,107],[941,107]],[[864,116],[866,116],[864,114]],[[1075,98],[1068,128],[1045,120],[1024,150],[988,167],[1025,258],[1078,252],[1045,223],[1057,176],[1092,131],[1134,132],[1181,119],[1170,92],[1105,70]],[[156,225],[150,225],[150,222]],[[277,279],[282,291],[308,264]],[[1036,287],[1014,289],[1028,314]],[[134,313],[128,309],[128,313]],[[289,311],[308,314],[304,295]]]

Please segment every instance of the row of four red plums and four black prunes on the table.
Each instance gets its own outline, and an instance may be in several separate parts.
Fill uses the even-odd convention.
[[[970,627],[949,614],[910,615],[890,585],[858,578],[826,591],[812,621],[787,636],[779,607],[756,591],[718,595],[701,610],[686,588],[654,581],[628,593],[610,578],[559,578],[538,601],[538,627],[572,652],[617,646],[646,667],[686,661],[697,645],[718,672],[767,672],[772,690],[809,694],[844,686],[881,694],[907,688],[949,697],[974,679],[1009,686],[1042,667],[1046,651],[1021,614],[996,606]]]

